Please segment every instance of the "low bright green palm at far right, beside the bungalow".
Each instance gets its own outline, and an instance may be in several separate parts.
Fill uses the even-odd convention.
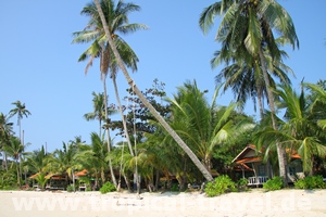
[[[275,145],[275,138],[283,146],[287,146],[289,153],[297,151],[303,163],[303,170],[313,174],[314,156],[324,157],[326,146],[323,144],[325,133],[315,122],[314,114],[309,110],[304,91],[297,94],[288,85],[278,86],[274,90],[281,101],[278,103],[279,108],[286,108],[284,120],[278,119],[279,129],[263,129],[258,133],[259,144],[267,143]]]

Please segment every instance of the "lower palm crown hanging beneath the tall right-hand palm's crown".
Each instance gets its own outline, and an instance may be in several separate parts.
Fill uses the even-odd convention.
[[[284,58],[288,58],[286,52],[281,53]],[[215,76],[215,81],[218,86],[222,84],[222,80],[225,80],[223,91],[225,92],[228,88],[230,88],[237,99],[237,102],[240,102],[241,108],[243,108],[247,99],[251,98],[254,104],[254,111],[256,111],[258,100],[261,119],[263,119],[263,99],[267,94],[267,91],[262,68],[260,67],[259,62],[254,60],[249,52],[243,51],[243,54],[244,55],[239,56],[239,53],[235,52],[216,51],[214,53],[214,58],[211,60],[212,68],[215,68],[222,62],[225,62],[227,66]],[[276,87],[276,82],[272,75],[278,78],[280,84],[291,84],[291,80],[287,76],[288,72],[293,75],[291,68],[281,62],[273,62],[266,52],[265,59],[268,63],[268,79],[271,87]]]

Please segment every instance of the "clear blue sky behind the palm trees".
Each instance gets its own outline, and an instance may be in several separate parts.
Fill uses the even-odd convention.
[[[89,142],[89,135],[98,131],[98,123],[86,122],[85,113],[92,111],[91,92],[102,92],[99,64],[85,76],[86,62],[77,62],[88,44],[72,44],[72,33],[82,30],[87,17],[80,11],[89,0],[15,0],[4,1],[0,8],[0,112],[8,114],[16,100],[26,104],[32,116],[23,118],[25,143],[28,150],[47,144],[48,151],[61,149],[76,136]],[[134,0],[140,12],[130,15],[130,23],[148,25],[125,36],[125,40],[139,56],[138,72],[131,74],[140,89],[150,88],[158,78],[165,82],[167,95],[186,80],[196,79],[200,89],[212,94],[214,76],[222,67],[211,69],[210,60],[220,46],[214,35],[220,24],[209,35],[203,35],[198,18],[203,8],[214,1],[189,0]],[[190,3],[191,2],[191,3]],[[316,82],[326,79],[326,1],[279,0],[291,15],[300,40],[300,49],[292,51],[286,64],[297,76],[294,88],[301,79]],[[121,97],[126,95],[127,84],[123,74],[117,78]],[[108,79],[110,103],[115,103],[112,82]],[[218,98],[226,105],[233,94]],[[246,112],[255,115],[251,105]],[[16,117],[11,119],[18,135]]]

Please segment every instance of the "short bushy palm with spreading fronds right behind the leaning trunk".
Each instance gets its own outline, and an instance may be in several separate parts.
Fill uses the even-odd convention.
[[[212,154],[217,145],[243,132],[243,129],[253,127],[251,124],[246,126],[243,124],[236,128],[230,115],[237,104],[230,103],[227,107],[218,107],[216,104],[218,90],[220,88],[216,88],[212,103],[209,104],[205,91],[200,91],[196,81],[186,82],[178,88],[174,99],[168,99],[172,103],[173,128],[188,144],[191,144],[209,170],[212,169]]]

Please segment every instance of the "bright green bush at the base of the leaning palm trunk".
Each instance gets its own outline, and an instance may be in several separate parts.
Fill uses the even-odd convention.
[[[236,183],[227,175],[217,177],[214,181],[209,182],[204,189],[210,197],[234,191],[237,191]]]

